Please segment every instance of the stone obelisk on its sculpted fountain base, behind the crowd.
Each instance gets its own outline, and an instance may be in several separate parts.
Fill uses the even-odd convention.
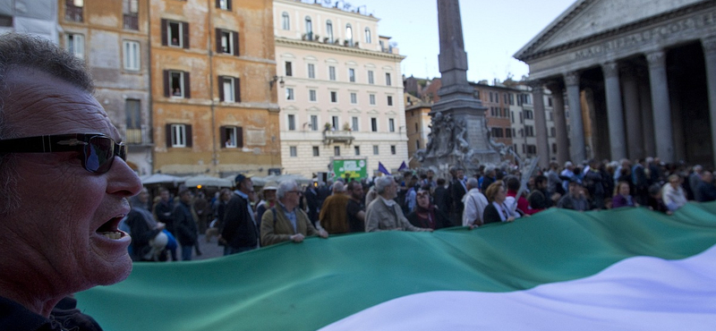
[[[438,0],[439,67],[442,87],[432,106],[432,123],[426,149],[417,153],[425,167],[462,165],[468,172],[482,164],[498,164],[497,150],[507,151],[488,137],[485,110],[467,81],[467,53],[463,41],[458,0]]]

